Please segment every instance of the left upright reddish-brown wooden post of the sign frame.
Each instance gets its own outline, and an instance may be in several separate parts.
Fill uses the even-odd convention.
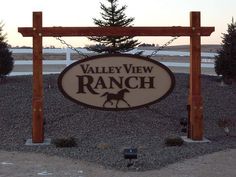
[[[42,76],[42,12],[33,13],[33,125],[32,142],[44,141],[43,76]]]

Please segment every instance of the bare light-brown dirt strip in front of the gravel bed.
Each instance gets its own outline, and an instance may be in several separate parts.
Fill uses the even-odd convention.
[[[235,164],[236,149],[144,172],[110,170],[83,161],[44,154],[0,151],[1,177],[235,177]]]

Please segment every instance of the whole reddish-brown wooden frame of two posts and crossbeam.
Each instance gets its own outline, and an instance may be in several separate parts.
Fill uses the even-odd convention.
[[[33,125],[32,142],[44,141],[42,39],[61,36],[189,36],[190,37],[190,122],[188,138],[203,139],[201,96],[201,36],[214,27],[201,27],[200,12],[190,12],[189,27],[43,27],[42,12],[33,12],[33,27],[19,27],[24,37],[33,37]]]

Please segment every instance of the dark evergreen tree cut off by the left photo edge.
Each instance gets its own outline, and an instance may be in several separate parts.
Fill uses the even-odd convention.
[[[0,79],[4,78],[13,69],[14,60],[12,53],[9,51],[6,35],[2,32],[3,24],[0,23]]]

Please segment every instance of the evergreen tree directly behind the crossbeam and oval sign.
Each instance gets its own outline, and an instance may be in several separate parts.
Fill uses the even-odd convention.
[[[134,21],[134,18],[128,18],[124,11],[127,6],[118,7],[118,0],[107,0],[109,6],[105,6],[100,3],[102,10],[102,19],[93,18],[94,24],[99,27],[128,27]],[[115,36],[115,37],[89,37],[90,40],[96,41],[99,44],[89,47],[89,50],[101,53],[120,53],[132,50],[139,43],[137,40],[133,40],[132,36]]]

